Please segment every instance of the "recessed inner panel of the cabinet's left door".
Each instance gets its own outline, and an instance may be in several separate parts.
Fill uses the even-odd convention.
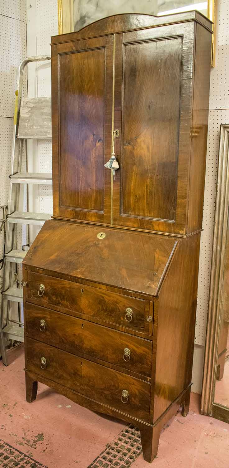
[[[61,55],[59,70],[60,203],[103,212],[105,50]]]

